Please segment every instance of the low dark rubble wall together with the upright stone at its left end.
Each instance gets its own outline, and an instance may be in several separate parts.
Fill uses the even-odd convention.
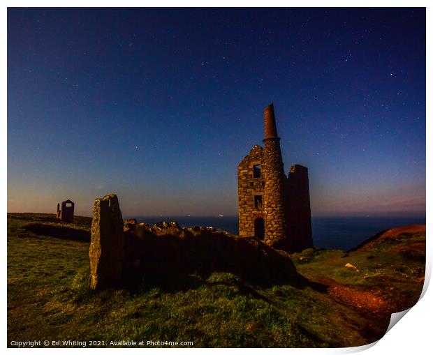
[[[95,200],[89,259],[92,289],[170,284],[191,273],[207,278],[213,272],[260,284],[305,281],[286,252],[254,237],[239,238],[212,227],[182,228],[177,222],[123,224],[114,194]]]

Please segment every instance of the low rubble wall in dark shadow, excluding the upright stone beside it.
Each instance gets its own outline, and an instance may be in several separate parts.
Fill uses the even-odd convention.
[[[187,280],[187,275],[195,274],[206,280],[212,273],[231,273],[250,285],[263,287],[287,284],[303,287],[306,282],[286,252],[258,239],[207,231],[183,230],[179,236],[149,232],[142,237],[126,233],[127,284],[144,280],[168,285],[169,289],[182,289],[179,280]]]

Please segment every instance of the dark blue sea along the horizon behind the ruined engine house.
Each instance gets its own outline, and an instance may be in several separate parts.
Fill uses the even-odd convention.
[[[238,234],[237,216],[194,217],[194,216],[130,216],[139,223],[153,225],[156,222],[175,220],[182,227],[214,227]],[[349,250],[362,241],[385,229],[402,225],[425,225],[425,216],[406,217],[312,217],[313,242],[316,248]]]

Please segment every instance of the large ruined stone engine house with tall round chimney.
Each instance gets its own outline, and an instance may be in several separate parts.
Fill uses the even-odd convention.
[[[307,167],[284,174],[274,106],[265,108],[264,148],[256,145],[237,166],[239,235],[256,236],[288,252],[313,246]]]

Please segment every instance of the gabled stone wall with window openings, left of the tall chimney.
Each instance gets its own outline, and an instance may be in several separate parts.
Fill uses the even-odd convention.
[[[260,165],[259,178],[254,178],[254,165]],[[237,196],[239,202],[239,235],[254,236],[254,220],[264,218],[265,173],[263,171],[263,148],[254,146],[237,165]],[[256,209],[254,195],[262,196],[261,209]]]

